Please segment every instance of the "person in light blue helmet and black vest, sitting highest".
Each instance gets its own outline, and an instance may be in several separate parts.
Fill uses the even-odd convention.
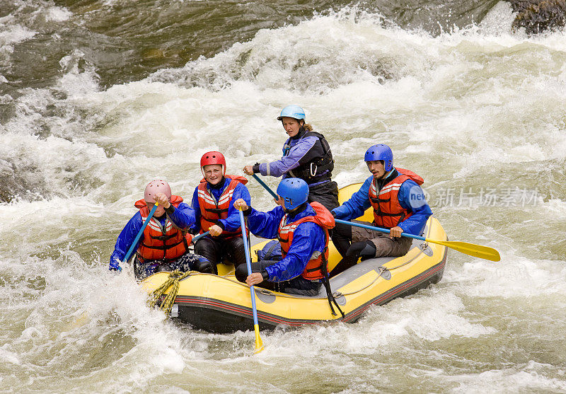
[[[283,178],[301,178],[310,190],[308,201],[316,201],[327,209],[338,206],[338,185],[332,180],[334,158],[323,134],[313,132],[299,105],[288,105],[277,120],[282,122],[289,139],[283,146],[280,160],[245,166],[244,173],[261,173]]]

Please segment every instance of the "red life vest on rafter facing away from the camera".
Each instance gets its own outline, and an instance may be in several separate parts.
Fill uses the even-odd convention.
[[[281,222],[279,223],[279,243],[281,243],[281,253],[283,258],[289,252],[291,248],[291,243],[293,243],[293,234],[296,228],[301,223],[306,221],[312,221],[322,227],[325,235],[325,245],[324,253],[315,252],[311,256],[311,260],[308,260],[304,271],[301,273],[301,277],[308,280],[322,279],[328,272],[328,229],[335,226],[334,217],[322,204],[318,202],[310,202],[311,207],[313,207],[315,216],[305,216],[297,221],[289,224],[284,224],[287,221],[287,214],[283,216]]]

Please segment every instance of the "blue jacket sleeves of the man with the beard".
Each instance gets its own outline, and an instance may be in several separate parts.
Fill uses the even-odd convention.
[[[347,202],[333,209],[336,219],[352,221],[362,216],[366,209],[371,207],[371,202],[369,201],[369,187],[373,181],[374,175],[371,175]],[[422,234],[424,226],[427,224],[427,219],[432,215],[432,209],[430,209],[427,202],[424,202],[424,204],[421,203],[422,205],[420,207],[412,207],[409,199],[410,193],[415,195],[419,194],[419,192],[422,194],[419,201],[425,201],[424,192],[422,192],[421,187],[417,185],[414,180],[408,179],[401,184],[399,194],[397,195],[401,207],[412,212],[412,215],[400,222],[398,226],[403,228],[403,233],[410,233],[414,236],[420,236]]]

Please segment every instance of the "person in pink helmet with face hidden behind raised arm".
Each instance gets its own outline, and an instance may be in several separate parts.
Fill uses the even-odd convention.
[[[183,202],[183,198],[171,194],[171,187],[164,180],[152,180],[146,186],[144,199],[134,205],[139,212],[129,219],[120,232],[110,256],[110,270],[118,270],[120,262],[134,242],[151,208],[158,202],[154,216],[144,228],[134,250],[134,274],[143,279],[159,271],[195,270],[212,273],[211,263],[200,255],[189,253],[192,236],[186,231],[195,223],[195,211]]]

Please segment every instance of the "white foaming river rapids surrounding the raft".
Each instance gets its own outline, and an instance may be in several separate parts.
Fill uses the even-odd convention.
[[[86,374],[86,387],[105,391],[155,390],[161,380],[183,389],[187,379],[191,387],[223,390],[214,383],[218,376],[236,390],[246,383],[252,391],[275,391],[288,386],[273,383],[279,373],[272,371],[313,377],[320,376],[320,365],[337,376],[350,373],[347,388],[370,391],[383,387],[379,383],[395,385],[395,373],[383,372],[387,364],[434,364],[425,354],[463,364],[471,358],[466,345],[502,335],[498,311],[516,312],[511,318],[526,330],[514,332],[518,342],[521,335],[540,335],[531,317],[521,320],[516,301],[560,305],[566,272],[558,257],[526,255],[528,249],[513,245],[521,229],[508,228],[526,216],[532,228],[545,228],[548,216],[560,220],[560,189],[536,207],[496,214],[480,205],[468,211],[433,206],[451,239],[494,246],[502,262],[451,251],[439,285],[371,308],[354,325],[264,332],[266,349],[254,359],[248,357],[253,332],[211,335],[164,322],[146,308],[132,277],[107,268],[113,241],[146,182],[164,176],[174,192],[190,199],[205,151],[223,151],[229,173],[275,160],[286,139],[275,118],[289,103],[302,105],[330,141],[341,186],[368,176],[362,154],[376,142],[391,144],[396,163],[437,187],[463,177],[500,182],[509,165],[560,170],[566,158],[563,33],[525,37],[505,29],[489,33],[488,27],[432,37],[346,10],[261,30],[215,57],[105,91],[96,70],[79,68],[83,54],[71,52],[60,62],[62,78],[50,88],[26,91],[16,115],[0,126],[1,157],[18,164],[15,175],[43,185],[35,201],[0,205],[0,267],[15,282],[3,287],[2,299],[14,324],[25,322],[21,333],[2,334],[0,357],[30,371],[30,390],[45,388],[40,366],[51,359],[48,381],[62,380],[57,369],[83,360],[71,372]],[[258,185],[248,185],[254,207],[272,207]],[[22,238],[25,245],[14,251]],[[486,299],[493,301],[487,307],[501,308],[490,310]],[[559,319],[541,314],[560,333]],[[531,348],[521,350],[540,357]],[[105,361],[96,359],[98,352],[106,352]],[[380,364],[382,357],[387,362]],[[506,368],[506,361],[494,361],[491,371],[480,373],[469,371],[480,369],[481,358],[463,373],[412,365],[404,377],[434,375],[477,392],[491,388],[494,379],[502,391],[564,389],[556,365],[533,363]],[[272,386],[261,386],[258,375]],[[98,381],[102,388],[94,386]],[[21,383],[9,375],[2,382]],[[343,387],[333,384],[333,390]]]

